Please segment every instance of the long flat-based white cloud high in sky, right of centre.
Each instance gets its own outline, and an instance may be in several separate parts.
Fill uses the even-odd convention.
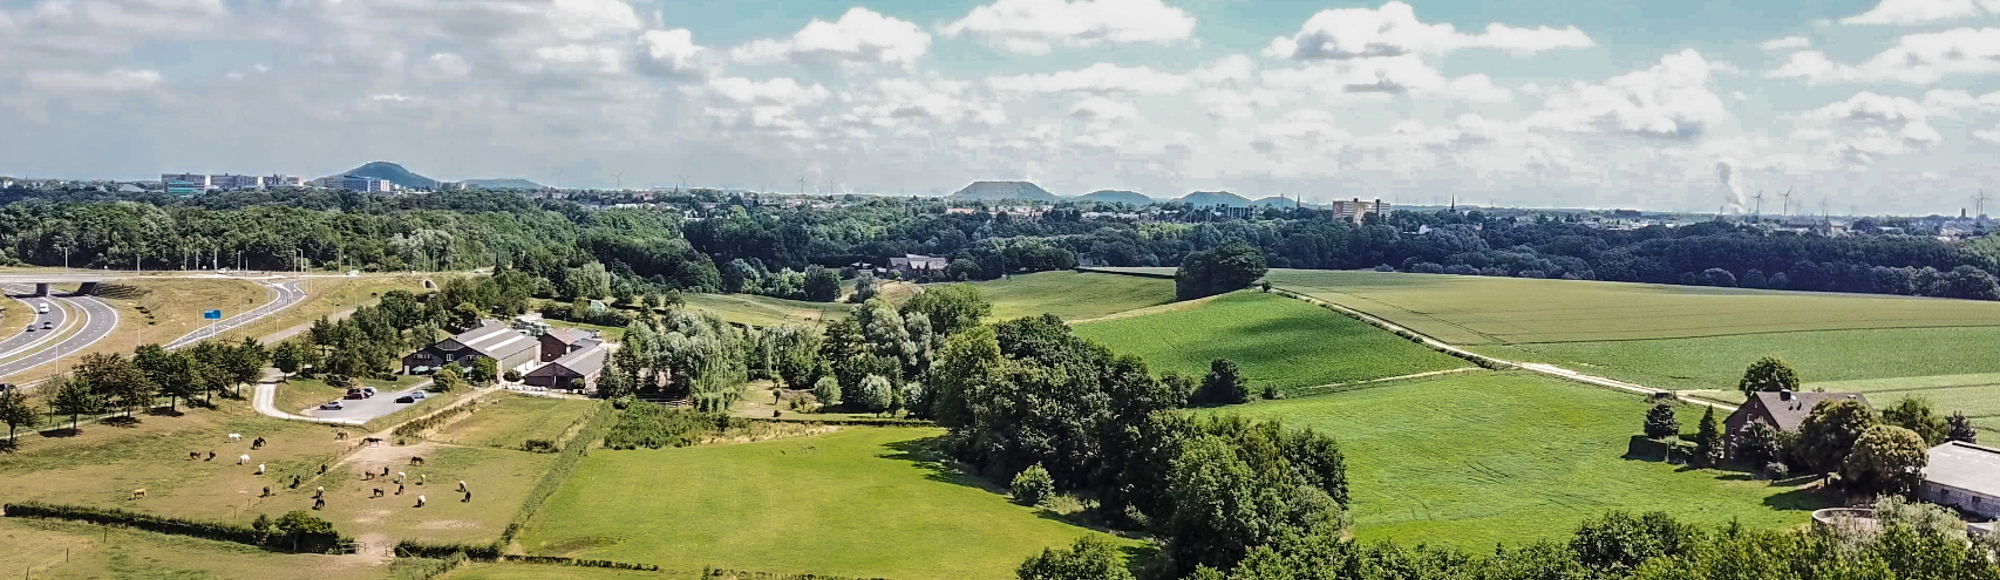
[[[1590,48],[1590,40],[1576,26],[1568,28],[1512,28],[1506,24],[1486,24],[1484,34],[1460,34],[1452,24],[1424,24],[1416,20],[1416,10],[1404,2],[1370,8],[1320,10],[1298,34],[1276,38],[1264,50],[1274,58],[1296,60],[1340,60],[1404,54],[1444,54],[1462,48],[1496,48],[1516,54],[1534,54],[1558,48]]]

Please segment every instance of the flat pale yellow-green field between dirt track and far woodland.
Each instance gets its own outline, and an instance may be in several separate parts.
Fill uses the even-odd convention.
[[[1976,300],[1330,270],[1266,280],[1452,344],[2000,328],[2000,302]]]

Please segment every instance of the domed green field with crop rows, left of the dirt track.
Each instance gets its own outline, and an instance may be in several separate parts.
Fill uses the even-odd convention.
[[[1076,334],[1138,354],[1154,372],[1200,378],[1210,360],[1228,358],[1242,366],[1252,390],[1298,392],[1468,366],[1332,310],[1254,290],[1078,324]]]

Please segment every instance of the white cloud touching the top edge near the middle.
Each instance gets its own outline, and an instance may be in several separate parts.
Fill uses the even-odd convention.
[[[972,34],[1012,52],[1046,54],[1050,46],[1168,44],[1194,36],[1194,16],[1160,0],[996,0],[944,26],[944,36]]]

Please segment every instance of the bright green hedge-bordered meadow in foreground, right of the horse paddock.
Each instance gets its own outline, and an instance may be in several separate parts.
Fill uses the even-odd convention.
[[[1030,554],[1092,534],[920,456],[918,444],[938,434],[852,428],[756,444],[598,450],[520,542],[530,554],[672,570],[1000,580],[1014,578]]]

